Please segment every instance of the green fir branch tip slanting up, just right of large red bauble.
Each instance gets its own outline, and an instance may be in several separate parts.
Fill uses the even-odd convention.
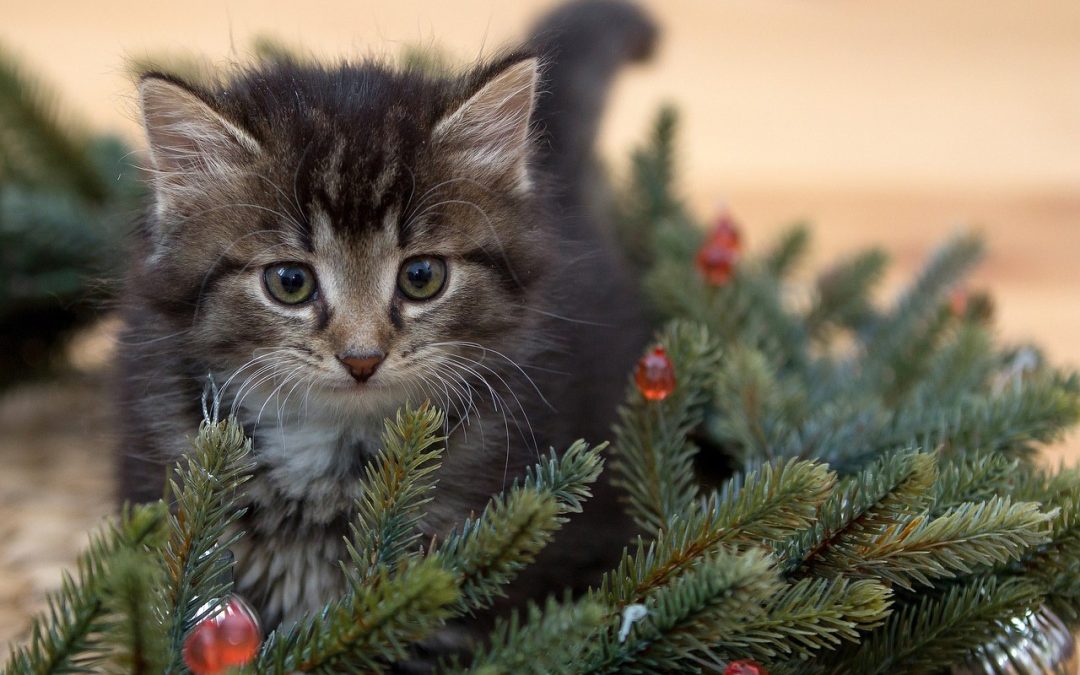
[[[454,575],[437,557],[406,558],[351,581],[345,596],[287,630],[271,633],[258,673],[383,672],[431,635],[460,598]]]

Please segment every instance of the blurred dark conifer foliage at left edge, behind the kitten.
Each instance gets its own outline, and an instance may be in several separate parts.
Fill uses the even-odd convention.
[[[0,389],[98,315],[139,208],[130,148],[86,133],[0,46]]]

